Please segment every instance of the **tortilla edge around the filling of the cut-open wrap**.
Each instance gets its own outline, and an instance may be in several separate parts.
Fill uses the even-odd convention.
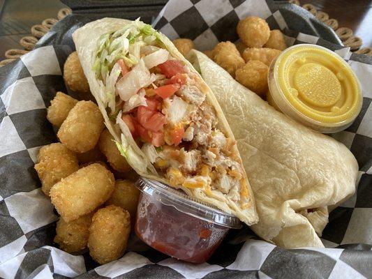
[[[147,156],[144,155],[139,146],[137,146],[135,140],[133,140],[133,137],[125,123],[120,123],[119,126],[115,123],[114,119],[110,119],[109,115],[107,114],[107,105],[103,100],[105,92],[103,91],[100,81],[97,79],[96,73],[93,70],[94,63],[96,61],[98,40],[100,40],[101,36],[103,36],[104,34],[110,33],[112,31],[117,31],[125,27],[127,24],[133,24],[133,22],[129,20],[120,20],[114,18],[104,18],[102,20],[96,20],[95,22],[90,22],[84,27],[77,29],[77,31],[73,33],[73,40],[75,42],[77,54],[82,64],[82,68],[84,69],[84,74],[89,82],[91,93],[96,98],[98,107],[100,108],[105,119],[105,125],[107,126],[107,129],[110,130],[110,133],[114,137],[114,140],[117,142],[118,148],[121,151],[122,155],[125,156],[131,167],[133,167],[133,169],[135,169],[135,171],[141,176],[170,184],[168,179],[165,179],[165,176],[161,176],[160,174],[158,174],[158,172],[156,172],[156,169],[150,163]],[[156,36],[158,36],[158,39],[161,40],[161,43],[165,45],[166,50],[170,52],[170,55],[173,58],[183,61],[188,70],[190,70],[190,72],[194,75],[198,76],[198,79],[200,79],[200,82],[202,83],[202,88],[204,91],[203,93],[206,94],[206,101],[214,107],[214,110],[216,112],[218,127],[221,128],[221,130],[223,130],[225,134],[228,135],[228,137],[230,137],[232,140],[235,140],[230,126],[228,125],[228,122],[223,115],[221,107],[218,105],[218,101],[216,100],[214,94],[211,92],[211,89],[209,89],[204,81],[202,81],[199,73],[193,68],[191,63],[189,63],[184,58],[184,56],[182,56],[178,52],[177,48],[174,47],[174,45],[168,38],[166,38],[161,33],[156,33]],[[236,144],[233,147],[237,151]],[[241,163],[240,166],[242,172],[244,172],[244,168],[242,167]],[[245,172],[243,179],[246,183],[248,191],[248,202],[244,204],[244,206],[241,206],[239,202],[233,201],[227,195],[224,195],[218,190],[207,192],[203,188],[193,189],[184,186],[177,186],[177,188],[181,188],[191,197],[195,197],[202,202],[206,202],[207,204],[214,205],[218,209],[221,209],[226,213],[232,213],[244,223],[252,225],[258,222],[258,215],[255,211],[253,193],[251,191],[251,187],[249,186]]]

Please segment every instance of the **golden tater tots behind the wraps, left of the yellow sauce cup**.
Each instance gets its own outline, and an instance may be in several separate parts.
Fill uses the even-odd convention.
[[[270,31],[267,22],[260,17],[246,17],[237,24],[237,34],[240,38],[237,43],[221,42],[204,54],[237,82],[265,98],[270,63],[287,48],[283,33]],[[184,55],[194,48],[193,41],[186,38],[173,43]]]

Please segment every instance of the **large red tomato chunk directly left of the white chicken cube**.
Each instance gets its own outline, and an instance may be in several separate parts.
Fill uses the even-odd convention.
[[[165,116],[160,112],[154,112],[147,107],[140,105],[137,110],[138,122],[151,132],[158,132],[165,124]]]

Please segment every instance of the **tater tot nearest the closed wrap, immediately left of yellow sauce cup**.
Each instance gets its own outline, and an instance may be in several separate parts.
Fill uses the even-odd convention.
[[[248,61],[246,65],[237,70],[236,80],[237,82],[251,89],[253,92],[262,96],[268,89],[267,86],[267,73],[269,67],[267,67],[261,61]]]

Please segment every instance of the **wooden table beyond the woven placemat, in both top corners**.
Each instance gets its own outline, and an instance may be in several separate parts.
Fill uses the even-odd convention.
[[[339,27],[349,27],[363,40],[362,47],[372,47],[372,0],[300,0],[338,20]],[[0,60],[10,48],[21,48],[19,40],[30,35],[30,28],[48,17],[57,18],[64,8],[59,0],[0,0]]]

